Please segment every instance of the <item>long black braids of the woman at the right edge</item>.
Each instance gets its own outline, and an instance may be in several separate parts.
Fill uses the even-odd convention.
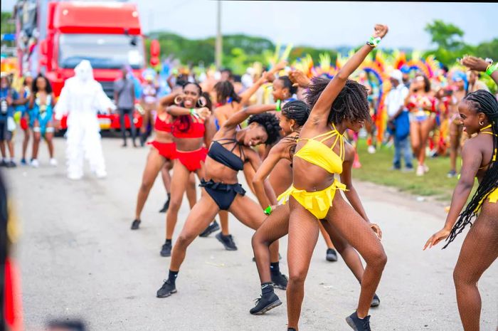
[[[460,234],[467,224],[472,226],[472,219],[477,216],[477,211],[480,210],[482,201],[487,198],[489,193],[498,188],[498,162],[496,159],[496,151],[498,148],[498,101],[494,98],[492,93],[487,90],[477,90],[473,93],[469,93],[462,100],[468,103],[476,112],[482,112],[486,115],[487,120],[491,123],[492,137],[493,137],[493,153],[491,161],[489,161],[489,167],[482,177],[482,181],[477,187],[472,200],[467,204],[465,210],[458,217],[458,221],[453,226],[450,236],[447,237],[447,243],[443,247],[446,248],[456,236]]]

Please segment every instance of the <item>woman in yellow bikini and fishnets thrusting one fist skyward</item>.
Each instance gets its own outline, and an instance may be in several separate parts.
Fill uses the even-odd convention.
[[[318,220],[327,219],[366,261],[356,312],[346,322],[356,331],[370,330],[367,316],[381,280],[386,253],[371,226],[351,207],[337,189],[346,189],[334,179],[341,174],[344,132],[358,131],[370,119],[366,88],[349,80],[371,50],[386,36],[387,26],[376,25],[373,36],[339,70],[332,80],[314,78],[307,93],[312,108],[300,132],[293,159],[293,184],[289,196],[290,219],[287,261],[288,330],[297,330],[304,297],[304,280],[318,238]]]

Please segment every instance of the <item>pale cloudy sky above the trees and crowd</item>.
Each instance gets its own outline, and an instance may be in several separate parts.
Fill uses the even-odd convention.
[[[2,10],[15,0],[1,0]],[[216,1],[135,0],[144,31],[165,30],[189,38],[216,33]],[[387,47],[430,48],[423,31],[434,19],[465,31],[467,43],[498,38],[498,4],[415,2],[222,1],[223,33],[247,33],[274,42],[315,47],[357,45],[375,23],[386,23]]]

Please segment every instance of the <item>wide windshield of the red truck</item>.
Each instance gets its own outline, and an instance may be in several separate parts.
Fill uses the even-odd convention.
[[[82,60],[90,61],[94,69],[115,69],[123,65],[130,65],[134,69],[144,68],[142,37],[124,34],[60,35],[60,68],[75,68]]]

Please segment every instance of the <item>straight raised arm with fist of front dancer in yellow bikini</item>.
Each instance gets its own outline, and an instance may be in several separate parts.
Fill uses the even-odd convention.
[[[381,24],[377,24],[373,31],[373,38],[383,38],[386,36],[388,31],[387,26],[383,26]],[[330,80],[327,87],[323,90],[322,94],[319,96],[317,103],[314,104],[314,107],[309,114],[309,119],[306,122],[306,125],[318,125],[319,123],[327,122],[327,117],[329,117],[330,106],[334,102],[337,95],[341,92],[344,85],[346,85],[346,81],[348,80],[351,73],[354,73],[361,63],[365,60],[366,56],[372,51],[374,46],[370,46],[366,44],[362,46],[359,51],[354,53],[352,56],[342,67],[334,78]],[[309,124],[308,124],[309,123]]]

